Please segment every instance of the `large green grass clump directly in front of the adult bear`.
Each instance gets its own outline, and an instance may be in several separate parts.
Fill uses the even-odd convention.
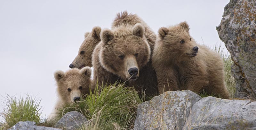
[[[64,109],[59,110],[60,118],[70,111],[83,113],[89,120],[82,130],[91,129],[132,129],[136,109],[143,100],[138,92],[124,84],[113,84],[85,96]]]

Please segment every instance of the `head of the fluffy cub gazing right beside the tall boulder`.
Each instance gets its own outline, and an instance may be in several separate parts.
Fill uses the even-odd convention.
[[[196,42],[189,35],[187,22],[181,22],[169,28],[161,27],[158,31],[158,43],[164,52],[168,53],[174,61],[184,58],[193,58],[197,55],[198,47]],[[171,50],[171,51],[170,51]],[[166,60],[166,59],[165,59]]]

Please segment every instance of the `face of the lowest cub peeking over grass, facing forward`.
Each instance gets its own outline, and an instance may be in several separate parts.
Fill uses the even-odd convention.
[[[82,94],[90,93],[91,72],[91,68],[87,66],[81,70],[74,68],[67,72],[54,72],[54,78],[58,86],[57,92],[63,103],[71,104],[82,98]]]

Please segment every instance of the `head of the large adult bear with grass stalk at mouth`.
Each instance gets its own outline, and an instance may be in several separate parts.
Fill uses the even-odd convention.
[[[136,81],[150,58],[144,26],[118,26],[101,32],[100,64],[123,80]]]

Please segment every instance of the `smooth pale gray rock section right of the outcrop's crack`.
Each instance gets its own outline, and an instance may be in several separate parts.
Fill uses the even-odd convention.
[[[256,121],[256,102],[205,97],[191,108],[184,129],[191,125],[223,124],[237,119]]]

